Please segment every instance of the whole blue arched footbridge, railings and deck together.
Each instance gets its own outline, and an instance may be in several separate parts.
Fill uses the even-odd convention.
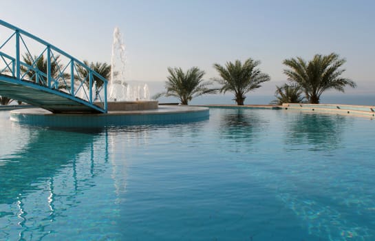
[[[106,113],[107,80],[54,45],[0,20],[0,96],[53,113]]]

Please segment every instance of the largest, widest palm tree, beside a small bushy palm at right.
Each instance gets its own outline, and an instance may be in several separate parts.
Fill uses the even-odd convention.
[[[289,67],[284,70],[288,80],[301,86],[309,103],[319,104],[320,96],[325,90],[338,90],[344,92],[344,87],[356,87],[356,83],[348,78],[342,78],[345,71],[340,67],[345,59],[331,53],[326,56],[315,54],[314,58],[306,63],[301,57],[286,59],[283,64]]]

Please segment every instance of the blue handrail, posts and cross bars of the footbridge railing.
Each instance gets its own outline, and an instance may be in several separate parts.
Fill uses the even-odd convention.
[[[75,68],[75,66],[74,66],[74,64],[77,64],[77,65],[80,65],[81,67],[83,67],[86,71],[87,71],[87,73],[89,74],[88,75],[88,78],[89,78],[89,96],[87,95],[87,93],[85,93],[85,95],[86,95],[86,98],[87,98],[87,102],[88,103],[90,103],[91,105],[94,105],[94,100],[98,97],[99,99],[100,99],[100,102],[102,102],[102,104],[104,104],[102,107],[100,107],[100,108],[103,108],[104,109],[104,112],[107,112],[107,83],[108,83],[108,81],[107,81],[107,79],[105,79],[103,76],[101,76],[100,74],[98,74],[98,72],[96,72],[96,71],[94,71],[94,70],[92,70],[89,66],[87,66],[85,63],[83,63],[82,61],[79,61],[78,59],[76,59],[76,58],[74,58],[74,56],[72,56],[72,55],[70,55],[70,54],[67,54],[67,52],[65,52],[65,51],[63,51],[63,50],[61,50],[61,49],[59,49],[59,48],[57,48],[56,46],[54,46],[54,45],[52,45],[52,44],[50,44],[50,43],[48,43],[47,41],[44,41],[43,39],[40,39],[39,37],[37,37],[37,36],[34,36],[34,34],[30,34],[29,32],[27,32],[27,31],[25,31],[25,30],[21,30],[20,28],[17,28],[16,26],[14,26],[14,25],[12,25],[12,24],[10,24],[10,23],[7,23],[6,21],[3,21],[3,20],[1,20],[0,19],[0,25],[3,25],[3,26],[5,26],[6,28],[9,28],[10,30],[14,30],[15,32],[8,38],[8,40],[5,42],[5,43],[3,43],[3,45],[5,45],[11,38],[12,38],[12,36],[14,36],[14,34],[17,36],[17,32],[18,32],[18,34],[23,34],[24,36],[28,36],[30,39],[33,39],[34,41],[37,41],[37,42],[39,42],[39,43],[41,43],[42,45],[45,45],[46,46],[46,48],[45,48],[45,50],[47,50],[47,56],[49,56],[50,57],[50,59],[47,59],[47,62],[48,62],[48,65],[50,66],[50,64],[51,64],[51,59],[52,59],[52,56],[54,57],[54,55],[53,54],[51,54],[52,53],[52,51],[53,52],[56,52],[56,53],[58,53],[58,54],[61,54],[62,56],[65,56],[67,59],[69,59],[70,60],[70,62],[69,63],[67,63],[67,65],[65,66],[65,68],[64,68],[64,70],[63,70],[63,72],[65,71],[65,69],[67,68],[67,66],[69,65],[69,64],[71,64],[72,66],[71,66],[71,76],[72,76],[72,83],[71,83],[71,89],[72,90],[69,90],[69,92],[71,93],[71,95],[72,96],[74,96],[74,97],[76,97],[76,98],[79,98],[79,97],[77,97],[76,96],[76,92],[74,92],[74,83],[76,82],[75,80],[76,80],[76,78],[75,78],[75,76],[74,76],[74,68]],[[20,36],[20,35],[19,35]],[[20,37],[20,39],[21,39],[21,37]],[[22,39],[22,41],[23,41],[23,39]],[[23,42],[23,44],[25,45],[25,43]],[[0,48],[2,48],[3,47],[3,45],[1,45],[1,47]],[[27,46],[25,45],[25,47],[26,47],[26,50],[28,50],[28,48],[27,48]],[[19,45],[17,44],[17,47],[16,48],[18,48],[18,50],[17,50],[17,56],[16,56],[16,58],[14,58],[14,57],[12,57],[12,56],[9,56],[8,54],[6,54],[6,53],[3,53],[3,52],[0,52],[0,61],[3,61],[5,64],[6,64],[6,67],[4,68],[4,70],[10,70],[10,63],[8,63],[4,58],[6,58],[6,59],[9,59],[10,61],[11,61],[11,63],[12,63],[12,70],[13,71],[11,71],[12,72],[12,76],[14,77],[14,76],[16,76],[17,78],[20,78],[21,77],[21,74],[20,74],[20,72],[21,72],[21,66],[25,66],[25,67],[27,67],[27,69],[28,70],[26,70],[26,72],[23,74],[23,76],[25,76],[26,74],[27,74],[27,72],[28,71],[30,71],[30,70],[33,70],[34,72],[35,72],[35,74],[36,75],[38,75],[38,74],[41,74],[41,76],[44,76],[44,77],[46,77],[47,78],[47,82],[48,82],[48,86],[47,87],[50,87],[50,88],[54,88],[54,87],[56,87],[56,86],[54,86],[54,85],[56,85],[56,81],[58,80],[58,78],[63,78],[63,81],[65,82],[65,84],[66,84],[66,81],[65,81],[65,79],[64,79],[64,76],[63,76],[63,72],[61,72],[61,70],[58,70],[59,72],[60,72],[60,74],[58,74],[58,76],[57,76],[57,78],[55,79],[55,78],[53,78],[52,76],[50,76],[50,74],[45,74],[44,72],[41,72],[40,70],[38,70],[37,68],[35,68],[34,67],[34,63],[35,63],[35,61],[34,61],[34,63],[32,63],[32,65],[28,65],[28,64],[26,64],[26,63],[23,63],[21,60],[20,60],[20,54],[19,54]],[[45,50],[43,50],[43,52],[45,52]],[[41,53],[41,55],[43,54],[43,52]],[[28,52],[28,54],[30,54],[30,52]],[[39,55],[39,57],[40,57],[40,55]],[[38,58],[39,58],[38,57]],[[37,58],[37,59],[38,59]],[[54,57],[55,58],[55,57]],[[18,61],[17,61],[18,60]],[[56,61],[56,58],[54,59],[55,61]],[[16,63],[15,65],[16,66],[14,66],[14,63]],[[2,70],[2,72],[4,71],[4,70]],[[50,70],[49,70],[50,71]],[[48,72],[47,72],[48,73]],[[98,80],[100,80],[100,81],[103,81],[103,85],[101,85],[99,88],[97,87],[97,89],[96,89],[96,98],[94,98],[94,100],[92,99],[92,87],[94,86],[94,76],[95,76],[95,78],[96,79],[98,79]],[[38,78],[37,76],[36,76],[36,78]],[[85,78],[86,79],[86,78]],[[74,80],[74,81],[73,81]],[[83,84],[84,84],[84,81],[82,81],[82,78],[78,78],[78,81],[79,82],[81,82],[80,83],[80,85],[79,85],[79,87],[78,88],[80,88],[80,87],[82,87],[83,86]],[[51,86],[50,84],[51,84],[51,82],[53,82],[54,84]],[[44,83],[45,84],[45,83]],[[98,93],[101,91],[101,90],[103,90],[103,88],[104,88],[104,96],[100,96],[100,95],[98,95]],[[99,89],[99,90],[98,90]],[[103,97],[103,98],[102,98]],[[95,104],[95,105],[97,105],[97,104]]]

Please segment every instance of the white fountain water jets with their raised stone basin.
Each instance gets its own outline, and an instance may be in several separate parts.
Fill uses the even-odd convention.
[[[149,99],[147,84],[132,86],[125,81],[125,44],[120,29],[114,29],[111,54],[111,78],[108,83],[108,110],[157,109],[158,101]]]

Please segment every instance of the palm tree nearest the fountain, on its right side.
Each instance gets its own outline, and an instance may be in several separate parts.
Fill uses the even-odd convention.
[[[188,105],[194,97],[216,92],[208,88],[212,84],[210,81],[203,83],[205,72],[198,67],[191,67],[186,73],[180,67],[168,67],[168,72],[168,81],[165,82],[167,92],[156,94],[153,98],[175,96],[180,99],[181,105]]]

